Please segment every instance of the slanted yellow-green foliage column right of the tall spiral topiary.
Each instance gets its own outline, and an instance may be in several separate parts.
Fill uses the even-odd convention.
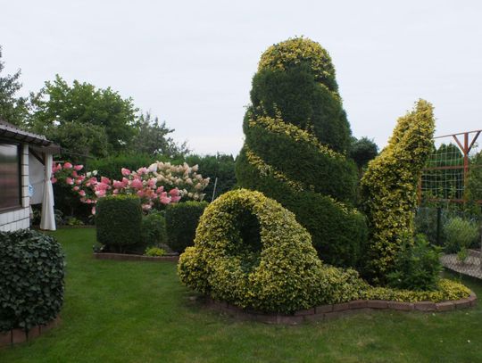
[[[384,284],[402,235],[412,235],[421,169],[432,150],[433,107],[420,100],[398,120],[386,148],[362,178],[362,200],[369,220],[366,275]]]

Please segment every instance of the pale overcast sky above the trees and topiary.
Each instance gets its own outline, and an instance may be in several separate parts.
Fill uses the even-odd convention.
[[[131,96],[196,153],[237,154],[262,52],[310,37],[335,64],[353,135],[383,147],[418,98],[436,135],[482,128],[479,1],[0,0],[5,70]]]

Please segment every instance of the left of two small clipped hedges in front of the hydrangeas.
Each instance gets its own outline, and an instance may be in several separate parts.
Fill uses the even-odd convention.
[[[141,243],[142,208],[134,195],[99,198],[96,206],[97,242],[110,251],[125,252]]]

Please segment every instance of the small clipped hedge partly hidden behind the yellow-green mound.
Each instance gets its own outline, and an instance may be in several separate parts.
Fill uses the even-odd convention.
[[[182,253],[195,240],[195,228],[207,207],[207,202],[180,202],[166,209],[167,243],[173,251]]]

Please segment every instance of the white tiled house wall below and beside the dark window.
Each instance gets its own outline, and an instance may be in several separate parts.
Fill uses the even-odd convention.
[[[29,145],[24,144],[21,155],[21,208],[0,213],[0,231],[15,231],[29,227]]]

